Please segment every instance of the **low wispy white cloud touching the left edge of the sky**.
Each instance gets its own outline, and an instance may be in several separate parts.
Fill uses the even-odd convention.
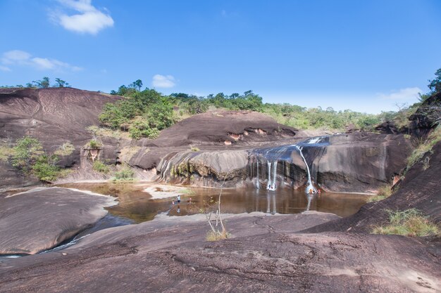
[[[30,53],[20,50],[12,50],[3,53],[2,58],[0,59],[0,63],[3,65],[22,65],[34,67],[37,70],[54,70],[54,71],[62,71],[62,70],[71,70],[71,71],[80,71],[81,67],[73,66],[68,63],[61,62],[56,59],[51,58],[41,58],[41,57],[33,57]],[[6,69],[6,70],[5,70]],[[0,70],[3,71],[11,71],[9,67],[0,66]]]

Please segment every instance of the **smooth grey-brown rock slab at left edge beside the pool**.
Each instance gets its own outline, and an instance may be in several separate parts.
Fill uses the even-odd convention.
[[[36,254],[89,228],[113,197],[66,188],[35,188],[0,198],[0,254]]]

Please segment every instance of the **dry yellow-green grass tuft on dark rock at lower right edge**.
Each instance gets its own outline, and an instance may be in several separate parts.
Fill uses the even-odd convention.
[[[423,237],[437,235],[440,237],[440,227],[432,223],[418,209],[404,211],[387,211],[390,224],[373,228],[373,234],[403,235],[410,237]]]

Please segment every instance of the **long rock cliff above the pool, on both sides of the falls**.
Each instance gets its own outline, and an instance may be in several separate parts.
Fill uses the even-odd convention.
[[[405,167],[411,151],[409,139],[402,135],[356,133],[323,139],[326,143],[322,145],[303,144],[302,152],[313,182],[335,192],[375,192]],[[263,149],[171,152],[158,171],[161,179],[174,183],[240,186],[247,178],[259,178],[266,186],[267,162],[277,161],[276,187],[299,188],[306,185],[308,176],[294,143]]]

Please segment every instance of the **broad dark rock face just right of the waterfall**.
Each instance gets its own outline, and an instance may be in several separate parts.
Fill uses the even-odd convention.
[[[410,152],[410,141],[402,135],[333,136],[312,164],[325,190],[372,192],[406,166]]]

